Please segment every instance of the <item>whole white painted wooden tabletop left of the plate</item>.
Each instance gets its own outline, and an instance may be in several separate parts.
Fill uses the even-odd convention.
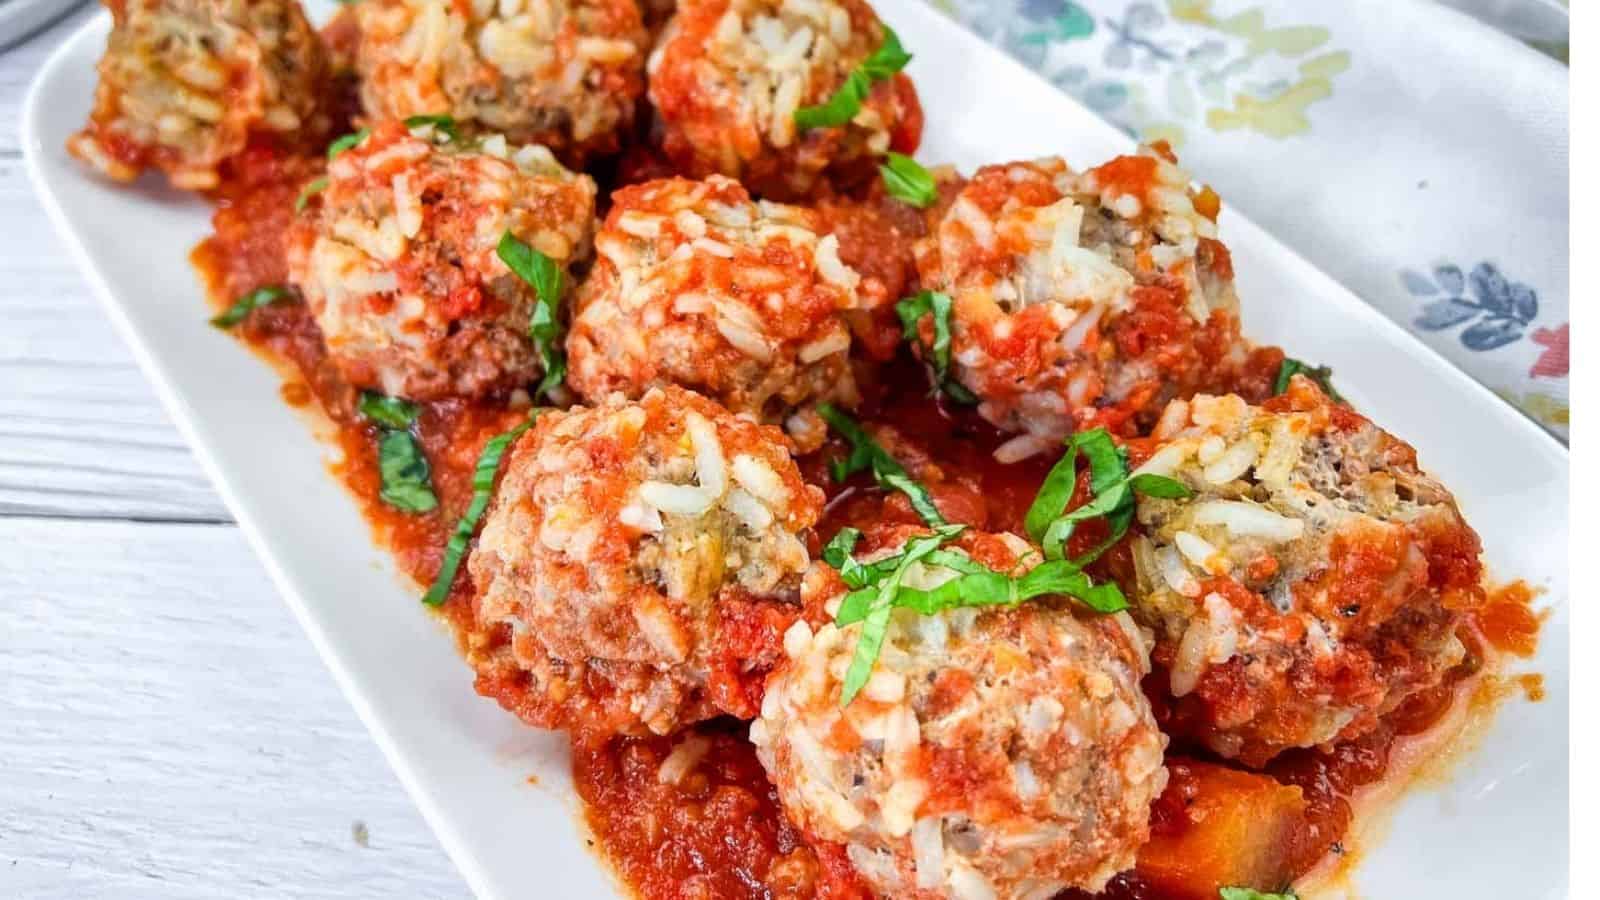
[[[464,897],[32,195],[86,16],[0,51],[0,897]]]

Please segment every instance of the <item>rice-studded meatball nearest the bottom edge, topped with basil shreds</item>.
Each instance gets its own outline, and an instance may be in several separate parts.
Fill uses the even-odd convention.
[[[859,559],[917,533],[891,527]],[[968,532],[954,546],[998,572],[1038,562],[1006,533]],[[906,585],[954,577],[915,562]],[[821,567],[806,588],[835,602],[845,593]],[[750,725],[795,825],[843,844],[883,897],[1043,900],[1099,890],[1133,866],[1166,783],[1166,738],[1139,690],[1149,661],[1126,613],[896,610],[870,679],[842,706],[859,636],[861,625],[790,626]]]

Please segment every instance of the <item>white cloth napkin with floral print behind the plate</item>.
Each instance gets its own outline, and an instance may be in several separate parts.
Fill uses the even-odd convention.
[[[1565,66],[1426,0],[931,2],[1566,439]]]

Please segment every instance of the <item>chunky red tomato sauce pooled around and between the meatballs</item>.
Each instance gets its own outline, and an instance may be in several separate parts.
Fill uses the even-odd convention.
[[[190,256],[218,309],[256,287],[285,282],[283,229],[301,184],[320,168],[315,159],[262,152],[242,160],[234,178],[218,191],[214,234]],[[258,309],[237,327],[237,335],[283,375],[285,402],[320,412],[333,424],[339,450],[333,472],[354,493],[374,540],[394,554],[398,569],[419,585],[430,583],[443,546],[472,498],[478,452],[490,437],[525,420],[526,410],[507,408],[504,402],[422,404],[413,428],[432,468],[440,506],[429,514],[403,514],[378,498],[379,432],[355,413],[357,392],[328,364],[304,304]],[[1261,356],[1256,370],[1245,373],[1234,388],[1259,396],[1270,384],[1266,368],[1275,368],[1277,359],[1282,357]],[[994,463],[990,452],[1000,436],[971,412],[947,408],[930,397],[925,375],[904,359],[872,388],[862,418],[875,428],[891,426],[925,453],[907,466],[931,485],[947,517],[987,530],[1022,530],[1022,516],[1051,460]],[[832,484],[826,463],[838,453],[840,447],[830,444],[800,461],[808,480],[829,492],[813,549],[850,520],[915,520],[902,498],[882,495],[861,476],[843,485]],[[1080,479],[1080,496],[1082,490]],[[1074,540],[1091,546],[1101,536],[1094,527],[1085,527]],[[458,633],[470,623],[469,593],[467,580],[458,577],[440,610]],[[1539,618],[1531,612],[1531,599],[1533,593],[1522,583],[1493,591],[1472,623],[1475,628],[1462,629],[1469,661],[1435,690],[1390,713],[1373,733],[1328,751],[1285,753],[1267,765],[1267,775],[1299,786],[1306,799],[1302,822],[1285,838],[1288,871],[1302,874],[1330,852],[1342,852],[1352,794],[1384,777],[1398,738],[1427,730],[1450,709],[1456,682],[1483,660],[1482,642],[1499,652],[1533,653]],[[1528,693],[1534,697],[1534,689]],[[1155,690],[1152,703],[1160,716],[1162,697]],[[632,890],[651,900],[869,897],[842,847],[810,841],[784,818],[744,729],[731,719],[699,725],[698,732],[712,741],[712,749],[678,785],[662,785],[656,777],[677,738],[574,745],[574,781],[603,855]],[[1198,790],[1186,757],[1219,761],[1184,746],[1170,748],[1168,756],[1171,780],[1152,807],[1152,831],[1171,836],[1190,826],[1186,810]],[[1176,900],[1150,887],[1138,870],[1114,879],[1099,897]]]

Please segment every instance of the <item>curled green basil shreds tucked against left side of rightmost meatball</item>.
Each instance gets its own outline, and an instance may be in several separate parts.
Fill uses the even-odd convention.
[[[1090,463],[1090,501],[1077,509],[1067,509],[1078,480],[1078,453]],[[1104,428],[1080,431],[1067,439],[1067,452],[1051,466],[1040,485],[1038,495],[1027,508],[1022,520],[1027,536],[1045,548],[1045,559],[1064,559],[1067,538],[1080,522],[1106,519],[1109,536],[1074,562],[1088,565],[1115,544],[1128,532],[1134,514],[1134,492],[1160,498],[1194,496],[1179,480],[1128,472],[1128,452],[1118,447]]]

